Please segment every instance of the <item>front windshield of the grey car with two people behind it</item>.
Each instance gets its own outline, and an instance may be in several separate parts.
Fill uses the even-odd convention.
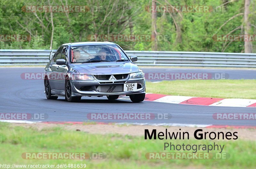
[[[71,62],[114,62],[128,60],[116,45],[87,45],[71,47]]]

